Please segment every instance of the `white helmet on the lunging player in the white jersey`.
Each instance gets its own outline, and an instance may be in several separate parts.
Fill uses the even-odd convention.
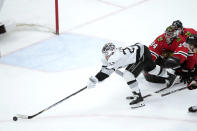
[[[107,43],[103,46],[102,53],[108,60],[115,52],[116,46],[113,43]]]

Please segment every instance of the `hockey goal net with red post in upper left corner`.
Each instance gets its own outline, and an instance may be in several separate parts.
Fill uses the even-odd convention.
[[[59,34],[58,0],[2,0],[0,22],[6,30]]]

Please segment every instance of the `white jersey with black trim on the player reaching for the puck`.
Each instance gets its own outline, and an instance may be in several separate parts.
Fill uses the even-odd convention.
[[[102,68],[97,73],[96,78],[103,81],[109,77],[115,70],[119,68],[126,68],[130,64],[137,63],[144,55],[144,45],[136,43],[125,48],[119,47],[108,60],[102,58]]]

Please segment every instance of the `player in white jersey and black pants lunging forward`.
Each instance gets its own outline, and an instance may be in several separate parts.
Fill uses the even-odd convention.
[[[89,78],[87,88],[95,87],[117,69],[125,68],[122,76],[132,90],[130,105],[132,108],[143,106],[143,97],[136,78],[143,70],[153,75],[160,73],[160,66],[153,62],[148,47],[136,43],[126,48],[116,48],[114,44],[107,43],[102,49],[102,54],[102,68],[95,76]]]

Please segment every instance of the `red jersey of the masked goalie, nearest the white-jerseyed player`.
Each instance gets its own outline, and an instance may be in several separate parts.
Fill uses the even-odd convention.
[[[164,52],[173,52],[172,56],[179,58],[180,63],[183,63],[188,56],[188,48],[183,46],[184,39],[179,35],[171,44],[167,44],[165,34],[158,36],[154,42],[149,46],[152,59],[155,61]]]

